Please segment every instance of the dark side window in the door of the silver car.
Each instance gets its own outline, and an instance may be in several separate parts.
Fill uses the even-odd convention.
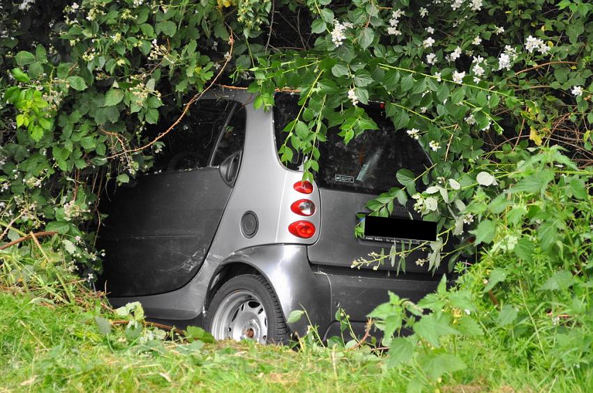
[[[220,130],[235,103],[228,100],[200,100],[177,127],[160,139],[162,151],[156,154],[153,169],[186,171],[207,167]]]

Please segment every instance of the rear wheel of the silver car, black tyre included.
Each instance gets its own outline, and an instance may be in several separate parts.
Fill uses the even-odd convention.
[[[270,284],[258,275],[225,282],[210,303],[204,325],[217,340],[287,344],[289,337],[280,303]]]

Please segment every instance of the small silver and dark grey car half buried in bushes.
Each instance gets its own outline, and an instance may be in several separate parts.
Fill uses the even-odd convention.
[[[107,190],[101,285],[112,305],[140,301],[150,318],[202,325],[216,339],[285,343],[308,320],[324,338],[339,334],[339,309],[361,334],[388,291],[411,300],[434,291],[442,269],[416,265],[423,250],[408,257],[405,273],[389,262],[351,268],[393,244],[435,240],[436,224],[410,204],[396,203],[392,217],[365,216],[399,168],[430,165],[417,141],[393,130],[382,105],[369,105],[380,129],[350,144],[330,129],[315,182],[303,181],[302,157],[278,157],[297,100],[276,93],[264,111],[246,91],[209,92],[165,136],[153,171]],[[356,238],[361,219],[365,236]],[[303,309],[308,318],[287,323]]]

